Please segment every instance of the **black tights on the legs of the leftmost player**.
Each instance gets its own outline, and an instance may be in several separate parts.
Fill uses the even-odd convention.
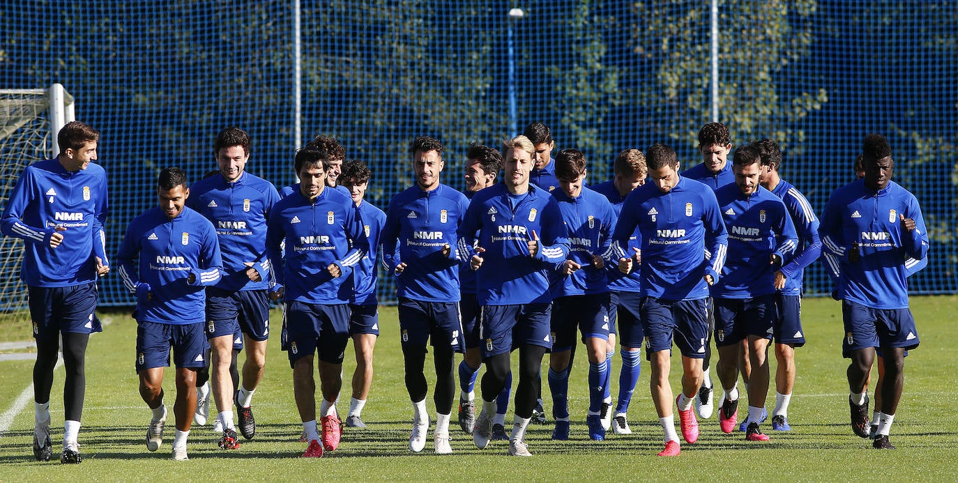
[[[63,334],[63,415],[65,421],[80,421],[83,413],[83,396],[86,392],[86,344],[90,334]],[[36,341],[34,363],[34,401],[49,403],[54,386],[54,368],[57,367],[59,339]]]

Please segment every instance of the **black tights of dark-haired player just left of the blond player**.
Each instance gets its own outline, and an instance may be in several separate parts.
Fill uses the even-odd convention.
[[[454,372],[456,353],[449,347],[433,347],[432,353],[433,362],[436,366],[436,392],[433,394],[433,403],[436,404],[436,412],[439,414],[450,414],[456,390]],[[402,358],[405,360],[406,390],[409,391],[409,399],[413,402],[424,400],[426,392],[428,392],[423,372],[425,355],[426,350],[423,347],[407,348],[402,346]]]

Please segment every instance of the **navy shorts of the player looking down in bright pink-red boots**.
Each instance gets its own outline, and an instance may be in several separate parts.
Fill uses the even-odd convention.
[[[682,356],[705,357],[705,335],[708,331],[706,305],[706,299],[642,299],[646,359],[650,360],[652,353],[672,351],[673,341]]]

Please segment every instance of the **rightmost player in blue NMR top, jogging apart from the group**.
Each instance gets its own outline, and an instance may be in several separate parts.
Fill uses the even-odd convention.
[[[919,345],[915,319],[908,309],[906,260],[923,260],[928,251],[918,200],[891,180],[895,169],[884,136],[869,134],[862,146],[865,177],[835,190],[822,217],[823,250],[840,264],[838,297],[842,300],[844,357],[855,434],[868,437],[865,382],[875,348],[884,357],[876,449],[894,449],[888,434],[901,399],[904,352]]]

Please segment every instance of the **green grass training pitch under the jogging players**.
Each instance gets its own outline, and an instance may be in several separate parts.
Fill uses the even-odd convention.
[[[830,299],[808,299],[803,313],[809,343],[797,352],[798,380],[789,409],[793,430],[778,433],[765,425],[771,437],[768,443],[746,442],[742,433],[722,434],[718,420],[713,418],[701,423],[698,442],[683,445],[681,456],[656,457],[655,453],[662,448],[662,432],[649,397],[645,360],[628,415],[634,433],[616,436],[610,432],[604,442],[589,441],[584,423],[588,401],[587,365],[583,363],[584,357],[577,357],[569,397],[574,420],[570,441],[551,441],[551,425],[532,426],[527,441],[535,457],[511,458],[506,456],[504,442],[492,442],[484,450],[475,449],[471,437],[453,422],[450,432],[454,454],[431,453],[431,437],[421,454],[413,454],[407,449],[412,409],[403,385],[396,310],[383,308],[380,311],[382,335],[376,345],[376,379],[369,403],[363,410],[368,429],[346,428],[339,449],[321,460],[298,458],[305,445],[298,442],[302,426],[293,403],[291,370],[285,354],[279,350],[278,337],[274,337],[270,340],[266,375],[253,403],[258,422],[256,438],[243,440],[240,449],[227,452],[217,448],[219,435],[211,431],[211,426],[194,426],[190,434],[189,462],[169,459],[171,430],[160,450],[151,453],[146,449],[144,435],[149,412],[137,393],[132,364],[135,323],[125,313],[103,313],[104,332],[91,338],[87,351],[86,404],[80,431],[83,463],[65,466],[34,460],[30,449],[34,426],[31,397],[30,404],[13,417],[10,430],[0,435],[0,481],[134,481],[157,476],[207,481],[223,477],[251,480],[946,480],[958,470],[958,451],[955,450],[958,420],[954,417],[954,384],[950,379],[958,374],[958,357],[953,348],[953,341],[958,340],[958,325],[951,319],[956,310],[958,296],[912,299],[922,346],[906,359],[904,395],[892,427],[892,442],[898,449],[893,451],[874,450],[870,441],[852,433],[845,381],[847,362],[840,354],[840,306]],[[350,349],[344,364],[347,380],[354,367],[352,357]],[[774,370],[774,362],[772,364]],[[617,354],[613,394],[618,390],[620,365]],[[30,360],[0,361],[0,414],[7,413],[29,386],[32,367]],[[677,387],[677,374],[678,368],[673,366],[673,388]],[[875,377],[873,375],[873,380]],[[57,369],[51,398],[55,456],[61,449],[62,438],[61,384],[62,368]],[[171,406],[174,391],[171,371],[165,386],[167,404]],[[343,394],[344,403],[339,407],[345,415],[349,390]],[[548,408],[547,394],[546,387],[544,396]],[[427,401],[431,407],[431,396]],[[774,392],[768,410],[773,406]],[[211,413],[214,410],[211,408]],[[512,421],[511,413],[508,421]],[[168,426],[171,429],[171,424]]]

